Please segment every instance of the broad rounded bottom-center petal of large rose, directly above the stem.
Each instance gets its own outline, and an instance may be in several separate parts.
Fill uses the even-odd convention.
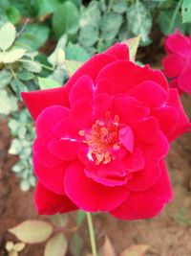
[[[106,187],[84,174],[84,166],[74,162],[69,166],[64,183],[66,194],[82,210],[89,212],[109,211],[127,197],[124,186]]]

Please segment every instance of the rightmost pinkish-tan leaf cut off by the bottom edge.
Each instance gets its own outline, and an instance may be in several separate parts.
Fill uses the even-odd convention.
[[[147,244],[132,245],[129,248],[126,248],[124,251],[122,251],[120,256],[144,256],[148,248],[149,245]]]

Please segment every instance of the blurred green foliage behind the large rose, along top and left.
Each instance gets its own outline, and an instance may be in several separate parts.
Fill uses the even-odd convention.
[[[1,0],[0,114],[9,118],[9,152],[18,155],[12,171],[23,191],[35,185],[34,128],[20,92],[64,84],[117,41],[140,35],[146,47],[175,29],[190,35],[190,0]]]

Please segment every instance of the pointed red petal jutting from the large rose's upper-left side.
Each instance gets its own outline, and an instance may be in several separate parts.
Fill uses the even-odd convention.
[[[42,112],[42,110],[48,106],[69,106],[68,96],[65,87],[38,90],[33,92],[22,92],[21,96],[34,120]]]

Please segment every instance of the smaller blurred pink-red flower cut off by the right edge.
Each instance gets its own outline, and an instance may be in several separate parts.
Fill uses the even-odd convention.
[[[167,57],[162,59],[165,75],[172,79],[171,87],[191,94],[191,37],[176,31],[165,40]]]

